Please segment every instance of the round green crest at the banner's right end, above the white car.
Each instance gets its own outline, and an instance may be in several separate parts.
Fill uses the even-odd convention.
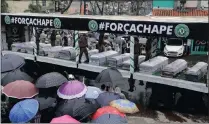
[[[185,24],[178,24],[175,27],[174,33],[175,33],[175,35],[177,37],[188,37],[189,33],[190,33],[190,30],[189,30],[189,27],[187,25],[185,25]]]

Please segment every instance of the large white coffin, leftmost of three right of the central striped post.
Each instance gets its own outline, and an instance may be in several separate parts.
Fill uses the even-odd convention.
[[[139,67],[141,73],[152,74],[157,71],[161,71],[166,65],[168,65],[168,58],[157,56],[141,63]]]

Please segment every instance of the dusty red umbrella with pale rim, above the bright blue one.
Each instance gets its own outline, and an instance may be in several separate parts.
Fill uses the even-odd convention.
[[[29,81],[17,80],[7,84],[3,94],[17,99],[32,98],[38,94],[38,89]]]

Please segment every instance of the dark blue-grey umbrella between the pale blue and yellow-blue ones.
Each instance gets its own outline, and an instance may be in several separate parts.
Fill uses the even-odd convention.
[[[108,106],[111,101],[116,100],[116,99],[120,99],[120,95],[114,92],[104,92],[104,93],[99,94],[96,101],[102,107],[102,106]]]

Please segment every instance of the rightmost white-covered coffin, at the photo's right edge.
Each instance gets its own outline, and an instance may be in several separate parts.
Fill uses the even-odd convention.
[[[205,62],[198,62],[185,73],[186,80],[199,81],[205,74],[207,74],[208,64]]]

